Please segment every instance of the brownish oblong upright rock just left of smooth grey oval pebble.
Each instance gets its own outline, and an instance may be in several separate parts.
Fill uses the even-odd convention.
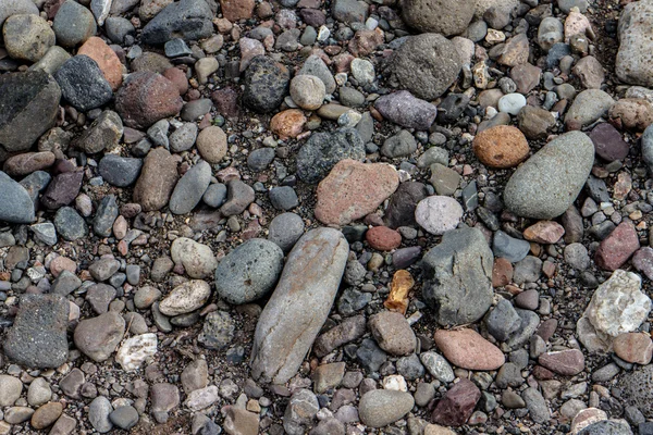
[[[164,148],[147,154],[133,195],[144,211],[160,210],[168,203],[177,181],[176,166],[177,158]]]

